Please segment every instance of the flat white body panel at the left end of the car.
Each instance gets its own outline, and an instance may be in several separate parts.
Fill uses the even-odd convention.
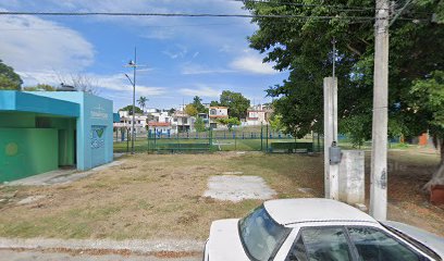
[[[219,220],[211,224],[208,240],[210,261],[249,261],[240,241],[237,223],[239,220]]]

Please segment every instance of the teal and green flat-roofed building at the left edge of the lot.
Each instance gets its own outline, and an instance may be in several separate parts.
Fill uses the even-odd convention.
[[[81,91],[0,91],[0,183],[113,159],[112,101]]]

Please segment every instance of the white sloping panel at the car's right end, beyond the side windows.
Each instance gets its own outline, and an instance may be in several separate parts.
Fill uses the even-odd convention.
[[[436,236],[418,227],[394,221],[384,221],[382,224],[392,227],[415,240],[423,244],[444,259],[444,237]]]

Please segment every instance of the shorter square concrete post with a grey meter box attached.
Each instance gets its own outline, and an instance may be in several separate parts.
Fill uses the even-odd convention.
[[[337,140],[337,79],[325,77],[324,96],[324,188],[325,198],[338,200],[340,164],[332,164],[331,147]]]

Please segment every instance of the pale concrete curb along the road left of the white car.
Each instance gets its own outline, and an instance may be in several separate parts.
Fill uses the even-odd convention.
[[[130,250],[138,253],[200,252],[203,241],[198,240],[110,240],[110,239],[54,239],[54,238],[4,238],[0,249],[69,249],[69,250]]]

